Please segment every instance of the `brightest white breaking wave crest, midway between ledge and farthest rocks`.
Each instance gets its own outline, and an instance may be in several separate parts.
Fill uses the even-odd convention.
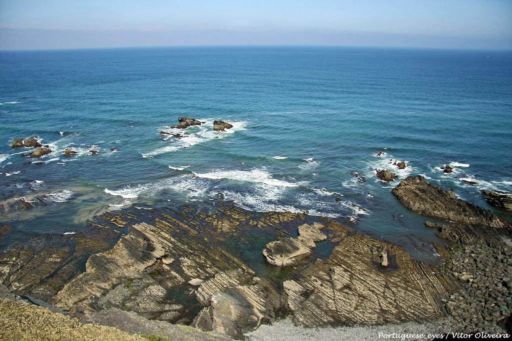
[[[220,180],[220,179],[230,179],[237,181],[248,181],[251,183],[262,183],[269,186],[278,186],[278,187],[296,187],[297,184],[288,183],[287,181],[278,180],[272,178],[272,175],[262,169],[253,169],[251,171],[224,171],[217,170],[208,173],[194,173],[194,175],[202,178],[208,178],[212,180]]]

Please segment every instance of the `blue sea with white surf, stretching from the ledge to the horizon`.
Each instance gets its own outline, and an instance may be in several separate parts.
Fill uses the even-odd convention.
[[[1,52],[0,201],[49,193],[53,201],[2,213],[0,222],[23,238],[78,232],[94,215],[132,204],[225,199],[253,211],[333,217],[435,259],[422,245],[441,242],[435,231],[393,197],[397,181],[382,183],[373,169],[393,170],[398,180],[422,174],[492,209],[480,190],[512,187],[511,95],[511,52]],[[179,131],[183,139],[158,133],[176,131],[168,126],[180,116],[206,124]],[[215,132],[216,119],[234,128]],[[10,143],[34,135],[54,152],[25,165]],[[66,148],[77,155],[63,157]],[[445,164],[453,174],[440,170]]]

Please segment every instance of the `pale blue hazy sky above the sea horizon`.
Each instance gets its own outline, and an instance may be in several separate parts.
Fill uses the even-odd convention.
[[[0,0],[0,50],[512,49],[512,0]]]

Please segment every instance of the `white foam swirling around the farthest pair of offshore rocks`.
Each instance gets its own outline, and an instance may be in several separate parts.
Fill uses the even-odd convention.
[[[165,146],[161,148],[157,148],[151,152],[148,153],[142,153],[142,157],[153,157],[160,154],[165,153],[172,153],[176,152],[178,150],[189,148],[192,146],[195,146],[200,143],[204,143],[207,141],[211,141],[214,139],[223,139],[226,136],[239,131],[239,130],[245,130],[245,126],[247,125],[247,122],[245,121],[239,121],[239,122],[232,122],[231,124],[233,127],[231,129],[226,129],[225,131],[214,131],[212,128],[213,121],[212,119],[202,119],[200,121],[206,122],[202,125],[196,125],[188,127],[188,129],[198,129],[196,132],[189,132],[188,135],[185,135],[183,138],[179,139],[172,139],[170,143],[172,143],[172,146]],[[183,133],[183,129],[167,129],[169,131],[173,131],[176,133]],[[169,138],[169,137],[167,137]],[[170,138],[169,138],[170,139]]]

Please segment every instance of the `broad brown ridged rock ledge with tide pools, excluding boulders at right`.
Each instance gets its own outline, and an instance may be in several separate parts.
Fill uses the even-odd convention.
[[[266,265],[266,245],[287,238],[309,252]],[[118,309],[234,338],[287,315],[308,327],[435,320],[455,282],[332,219],[220,203],[104,214],[87,232],[11,245],[0,274],[82,319]]]

